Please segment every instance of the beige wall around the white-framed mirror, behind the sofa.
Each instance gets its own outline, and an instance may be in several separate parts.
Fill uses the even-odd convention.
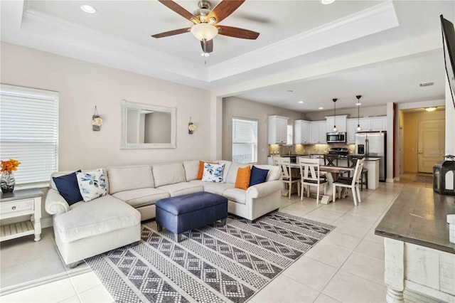
[[[210,92],[10,43],[0,47],[1,83],[60,92],[59,170],[210,157]],[[177,148],[120,149],[122,99],[176,107]],[[100,132],[92,131],[95,105]],[[194,134],[188,134],[190,116]]]

